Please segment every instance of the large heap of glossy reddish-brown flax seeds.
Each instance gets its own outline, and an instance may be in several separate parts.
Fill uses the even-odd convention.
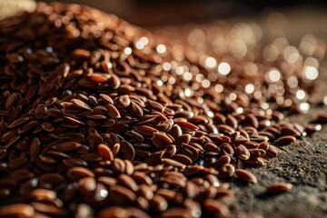
[[[224,26],[160,44],[81,5],[40,3],[1,21],[0,215],[230,216],[225,179],[258,182],[239,163],[268,163],[319,130],[282,114],[308,110],[316,68],[304,60],[319,53],[195,46],[241,31]]]

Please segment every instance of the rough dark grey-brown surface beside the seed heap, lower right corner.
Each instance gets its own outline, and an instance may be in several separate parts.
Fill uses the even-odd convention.
[[[294,116],[294,119],[301,116]],[[312,137],[283,146],[282,154],[265,166],[249,168],[255,185],[232,183],[234,217],[325,217],[327,214],[327,128]],[[292,183],[290,193],[267,197],[264,187]]]

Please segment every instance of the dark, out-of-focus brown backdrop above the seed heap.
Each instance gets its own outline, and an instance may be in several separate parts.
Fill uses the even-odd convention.
[[[7,0],[9,1],[9,0]],[[134,25],[175,25],[235,15],[255,15],[273,9],[326,10],[326,0],[58,0],[94,6]],[[45,2],[51,2],[45,0]],[[327,10],[326,10],[327,11]]]

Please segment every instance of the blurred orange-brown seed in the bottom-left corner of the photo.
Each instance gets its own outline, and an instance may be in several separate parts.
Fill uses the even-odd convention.
[[[14,203],[0,207],[1,217],[33,217],[35,209],[30,204]]]

